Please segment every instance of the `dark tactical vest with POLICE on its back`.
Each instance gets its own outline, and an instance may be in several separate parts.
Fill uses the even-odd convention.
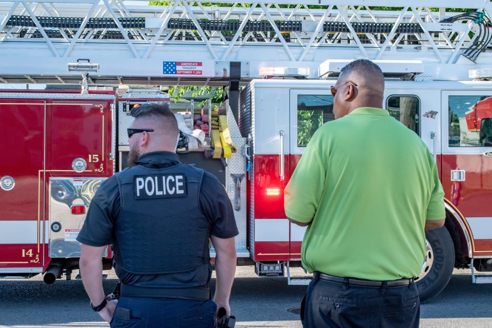
[[[134,274],[186,272],[210,262],[210,222],[199,192],[203,171],[178,163],[137,165],[116,175],[120,212],[115,218],[116,265]]]

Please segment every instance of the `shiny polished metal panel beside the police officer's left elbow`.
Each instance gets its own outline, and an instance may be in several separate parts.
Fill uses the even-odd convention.
[[[76,240],[84,224],[92,197],[105,178],[50,178],[49,256],[80,257]],[[71,208],[85,206],[85,213]],[[107,256],[108,250],[104,256]]]

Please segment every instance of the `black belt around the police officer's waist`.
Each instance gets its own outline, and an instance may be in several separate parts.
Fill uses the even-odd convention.
[[[148,288],[121,284],[120,296],[124,297],[167,297],[180,299],[193,299],[197,301],[210,300],[208,287],[191,288]]]

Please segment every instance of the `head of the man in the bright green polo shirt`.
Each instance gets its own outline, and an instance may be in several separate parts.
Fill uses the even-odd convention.
[[[378,65],[368,59],[357,59],[344,66],[335,88],[334,113],[345,116],[360,107],[382,108],[384,75]],[[332,89],[332,93],[333,93]]]

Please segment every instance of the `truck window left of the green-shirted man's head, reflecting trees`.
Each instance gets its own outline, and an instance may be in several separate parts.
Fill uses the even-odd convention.
[[[298,95],[297,147],[306,147],[316,130],[334,119],[332,95]]]

